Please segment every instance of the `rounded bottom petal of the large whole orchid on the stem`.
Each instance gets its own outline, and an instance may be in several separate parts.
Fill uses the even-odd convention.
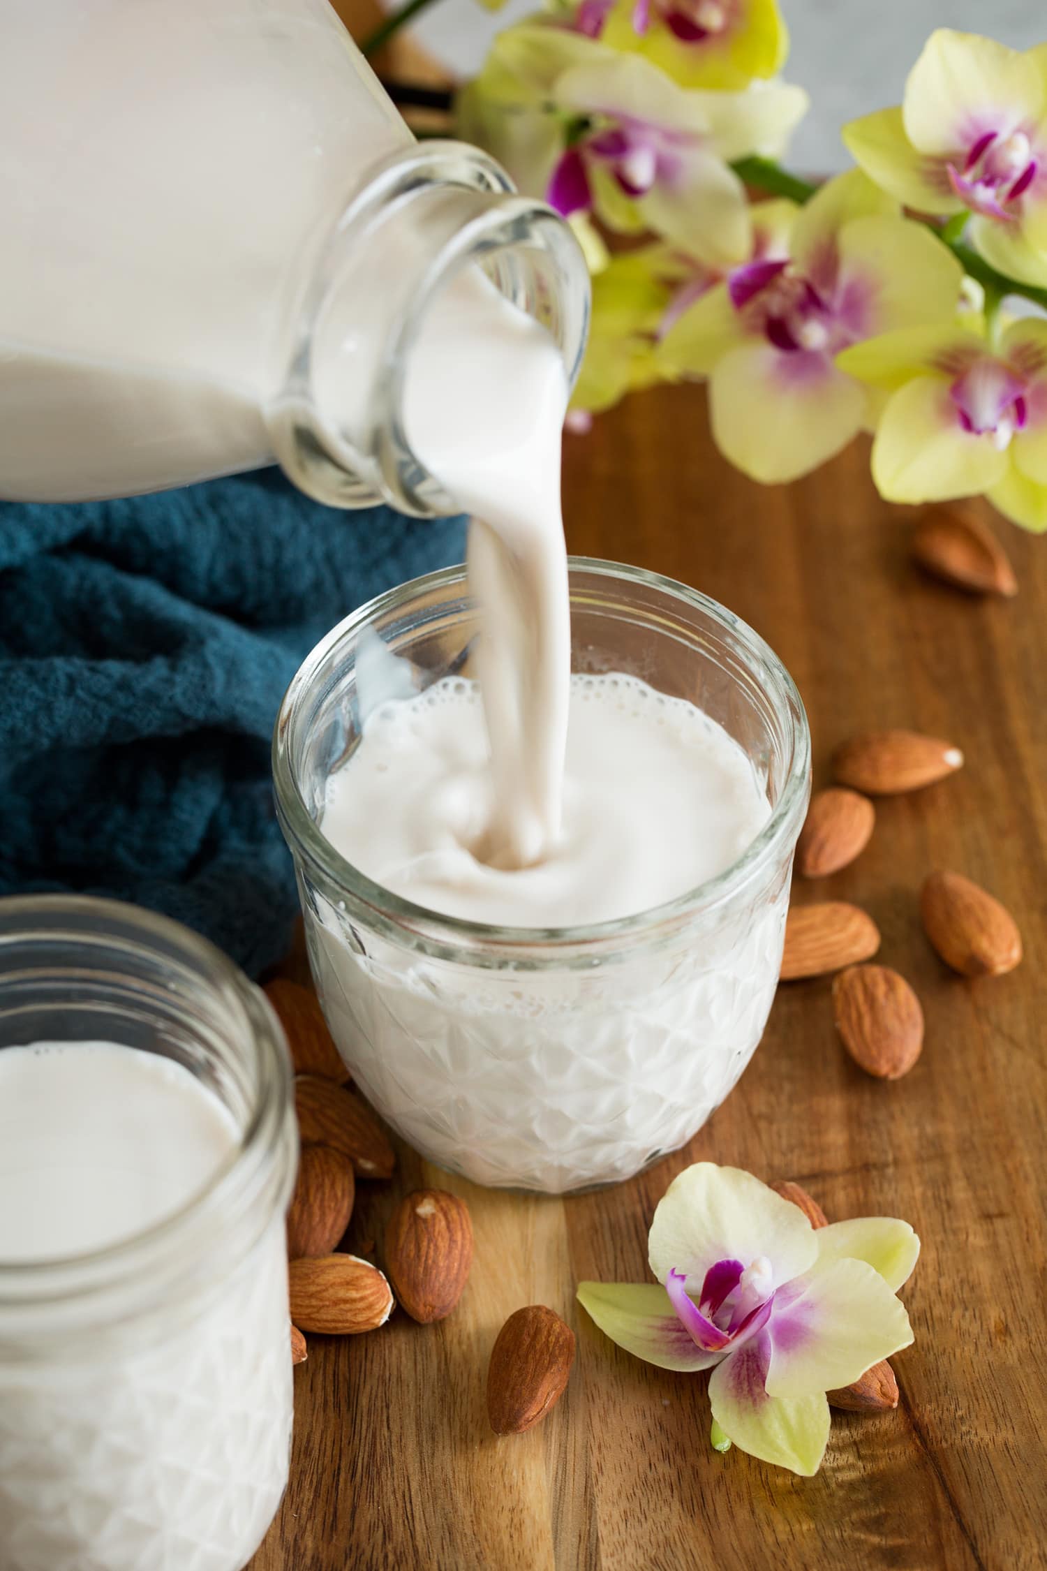
[[[865,405],[865,388],[826,355],[763,341],[730,350],[710,379],[717,448],[764,485],[797,479],[840,452],[862,429]]]

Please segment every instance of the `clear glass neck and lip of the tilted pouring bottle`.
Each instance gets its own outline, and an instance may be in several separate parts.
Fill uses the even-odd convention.
[[[265,415],[276,457],[300,490],[334,507],[460,511],[411,448],[403,382],[422,320],[469,267],[548,328],[575,382],[590,291],[568,225],[518,196],[477,148],[414,145],[353,196],[287,316],[284,382]]]

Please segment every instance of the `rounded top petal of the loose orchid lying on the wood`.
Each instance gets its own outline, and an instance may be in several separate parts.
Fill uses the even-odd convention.
[[[807,1271],[818,1258],[815,1232],[783,1200],[739,1167],[695,1163],[670,1183],[655,1210],[650,1265],[659,1280],[672,1269],[700,1293],[717,1260],[752,1262],[766,1255],[775,1284]]]

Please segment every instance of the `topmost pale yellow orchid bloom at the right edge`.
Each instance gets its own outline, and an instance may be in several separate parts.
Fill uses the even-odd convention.
[[[901,108],[851,121],[843,140],[898,201],[970,214],[972,240],[992,267],[1047,283],[1047,44],[1020,53],[939,28]]]

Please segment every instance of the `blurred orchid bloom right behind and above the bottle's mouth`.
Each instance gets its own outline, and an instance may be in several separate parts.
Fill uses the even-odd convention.
[[[640,55],[553,25],[502,33],[458,101],[458,129],[560,214],[653,229],[710,262],[750,244],[746,193],[728,168],[777,156],[807,94],[758,82],[744,93],[681,88]]]

